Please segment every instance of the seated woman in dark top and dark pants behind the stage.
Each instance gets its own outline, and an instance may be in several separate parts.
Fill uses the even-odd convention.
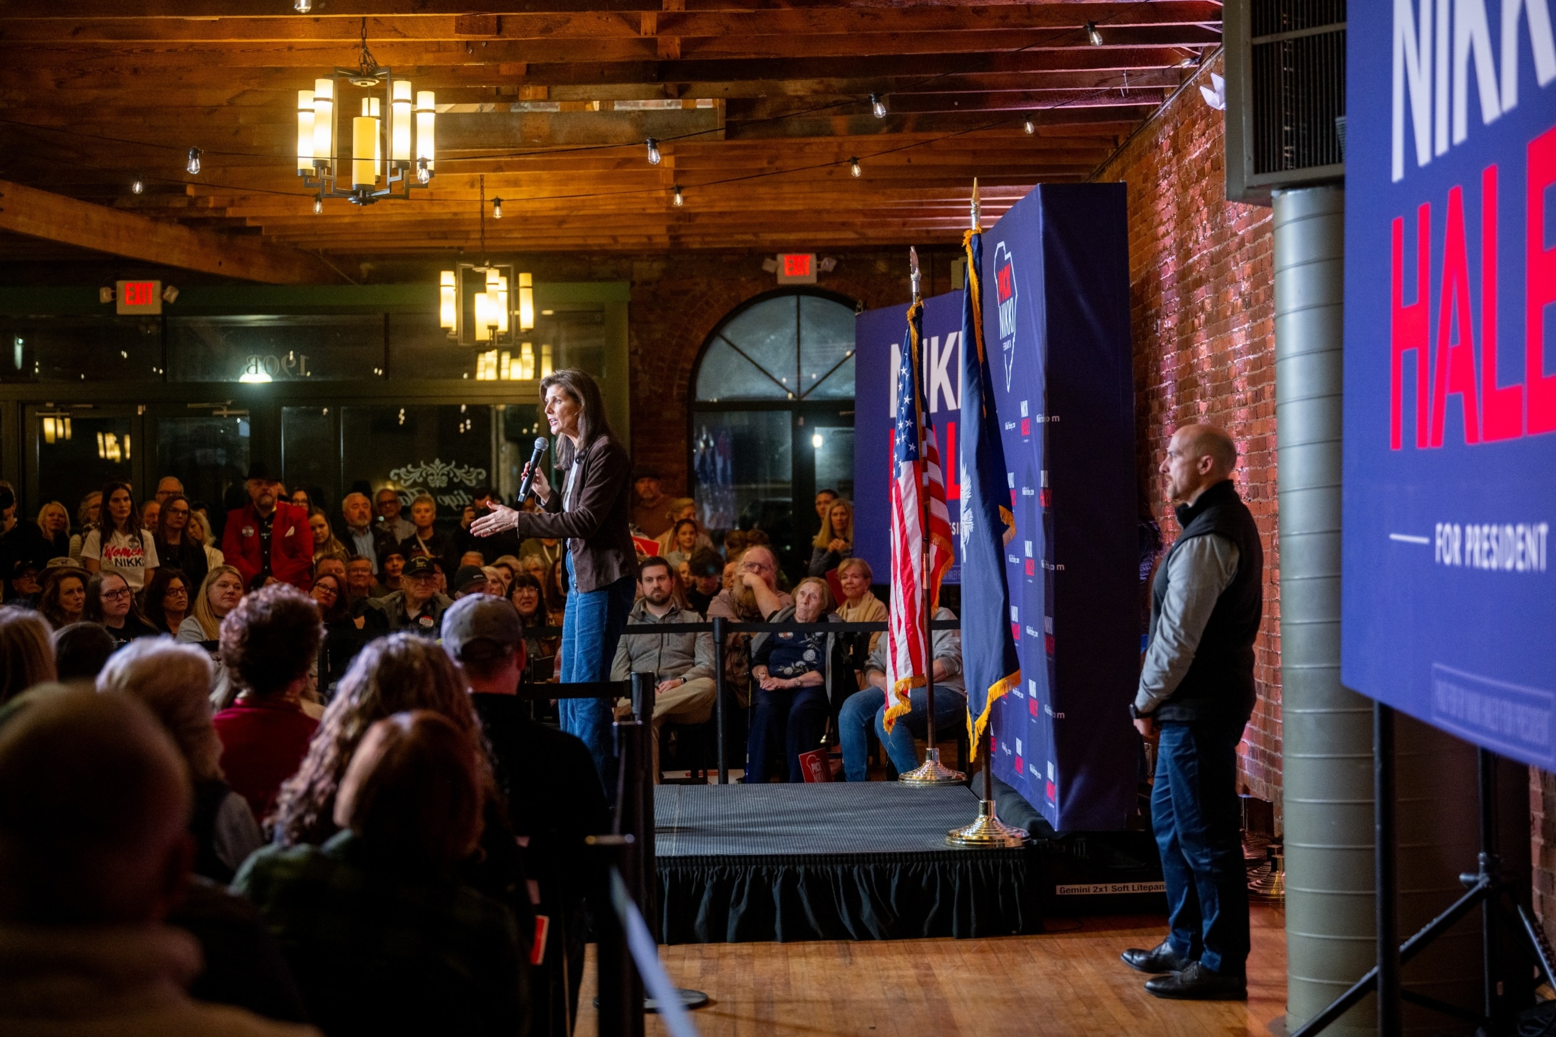
[[[831,592],[826,581],[808,577],[794,589],[794,605],[778,611],[775,623],[836,622],[828,616]],[[803,782],[800,754],[822,745],[832,712],[829,676],[837,665],[839,639],[823,631],[778,631],[752,641],[755,707],[745,745],[745,780],[766,782],[778,762],[783,780]]]

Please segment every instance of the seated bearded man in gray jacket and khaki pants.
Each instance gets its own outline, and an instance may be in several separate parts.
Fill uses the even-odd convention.
[[[616,642],[610,679],[652,673],[654,689],[654,780],[660,780],[660,728],[666,720],[706,723],[716,693],[713,634],[655,634],[638,630],[660,623],[700,623],[699,613],[675,603],[675,574],[664,558],[644,558],[638,572],[643,597],[627,614],[627,630]]]

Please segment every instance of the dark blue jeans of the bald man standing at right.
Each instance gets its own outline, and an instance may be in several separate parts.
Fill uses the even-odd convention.
[[[1215,972],[1248,964],[1248,869],[1237,812],[1242,723],[1165,723],[1151,827],[1162,857],[1172,948]]]

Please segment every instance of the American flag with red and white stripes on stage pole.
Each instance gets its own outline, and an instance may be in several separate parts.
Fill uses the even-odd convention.
[[[885,729],[912,709],[909,693],[924,686],[930,662],[924,614],[940,605],[940,578],[951,567],[951,516],[940,449],[929,423],[920,378],[924,305],[913,300],[896,368],[896,421],[892,429],[892,609],[887,620]],[[924,564],[924,498],[929,499],[929,564]]]

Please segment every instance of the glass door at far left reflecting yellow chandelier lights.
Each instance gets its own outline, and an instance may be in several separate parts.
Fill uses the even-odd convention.
[[[140,479],[145,418],[138,407],[28,404],[23,421],[22,516],[34,518],[45,504],[58,501],[70,515],[72,532],[79,532],[76,513],[84,498],[115,479],[134,487],[137,504],[145,499],[148,488]]]

